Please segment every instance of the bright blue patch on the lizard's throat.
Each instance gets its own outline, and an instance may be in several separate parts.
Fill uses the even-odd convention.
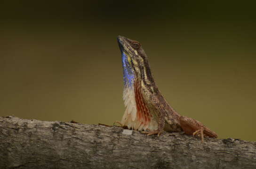
[[[128,62],[127,55],[123,52],[122,52],[122,63],[123,63],[124,85],[131,87],[133,86],[135,76]]]

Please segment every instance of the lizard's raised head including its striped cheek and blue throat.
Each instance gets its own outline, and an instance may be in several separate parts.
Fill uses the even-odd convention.
[[[131,86],[135,78],[144,75],[144,69],[149,67],[147,56],[138,41],[122,36],[118,36],[117,41],[122,56],[124,84]]]

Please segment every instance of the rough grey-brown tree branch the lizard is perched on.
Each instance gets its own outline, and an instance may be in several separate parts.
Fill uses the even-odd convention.
[[[0,169],[256,169],[256,142],[0,117]]]

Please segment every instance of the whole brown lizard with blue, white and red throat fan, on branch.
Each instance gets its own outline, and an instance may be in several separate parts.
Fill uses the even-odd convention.
[[[122,55],[126,110],[121,120],[123,126],[143,131],[147,135],[162,131],[184,131],[187,135],[217,137],[202,123],[179,115],[164,99],[152,77],[147,55],[141,44],[122,36],[118,37]],[[199,133],[200,131],[200,133]],[[203,134],[202,134],[203,133]]]

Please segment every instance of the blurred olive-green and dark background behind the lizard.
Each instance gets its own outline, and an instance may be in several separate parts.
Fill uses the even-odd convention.
[[[0,116],[112,124],[117,36],[138,40],[165,98],[219,138],[256,141],[255,4],[1,1]]]

